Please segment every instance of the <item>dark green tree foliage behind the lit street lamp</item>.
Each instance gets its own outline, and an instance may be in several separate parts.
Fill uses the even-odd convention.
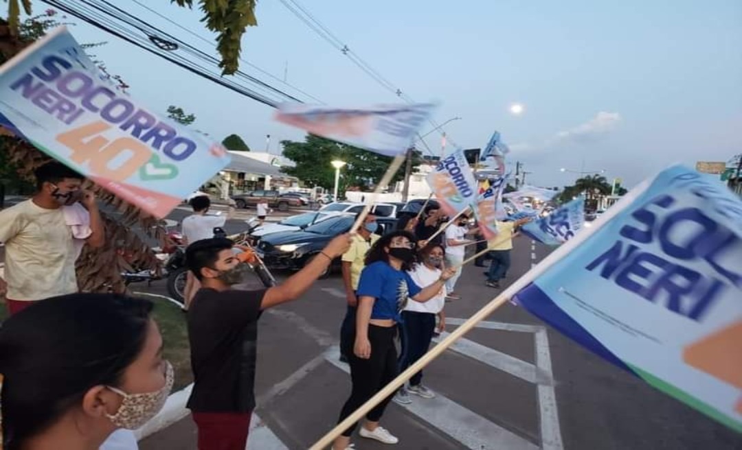
[[[309,187],[332,188],[335,185],[335,168],[330,162],[339,159],[347,163],[341,169],[341,191],[350,187],[368,189],[387,171],[392,163],[390,156],[381,156],[330,139],[309,134],[304,142],[283,141],[283,156],[296,163],[294,168],[282,170],[301,179]],[[413,152],[413,168],[422,162],[418,151]],[[398,171],[393,182],[404,179],[404,171]]]

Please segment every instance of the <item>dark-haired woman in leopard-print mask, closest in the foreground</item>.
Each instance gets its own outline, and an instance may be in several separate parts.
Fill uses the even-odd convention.
[[[43,300],[0,328],[5,450],[97,450],[116,429],[138,429],[165,404],[152,303],[114,294]]]

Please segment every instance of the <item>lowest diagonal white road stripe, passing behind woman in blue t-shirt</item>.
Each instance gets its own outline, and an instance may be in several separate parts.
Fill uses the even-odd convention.
[[[338,361],[337,355],[337,346],[325,352],[327,362],[349,373],[349,366]],[[537,450],[539,448],[441,394],[436,394],[434,399],[413,399],[410,405],[398,406],[459,441],[467,449]]]

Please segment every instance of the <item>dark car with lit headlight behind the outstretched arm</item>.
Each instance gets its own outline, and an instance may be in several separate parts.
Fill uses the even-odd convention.
[[[257,241],[258,256],[271,269],[301,269],[316,257],[332,238],[347,233],[354,220],[355,214],[341,214],[300,231],[268,234]],[[378,217],[376,222],[378,223],[376,234],[382,235],[395,230],[397,219]],[[339,267],[340,258],[336,258],[322,276],[326,277]]]

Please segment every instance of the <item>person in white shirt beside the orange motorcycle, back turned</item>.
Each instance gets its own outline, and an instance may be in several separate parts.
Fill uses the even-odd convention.
[[[214,228],[222,228],[227,219],[231,219],[232,214],[234,214],[234,208],[229,207],[226,216],[207,215],[209,208],[211,208],[211,199],[205,195],[195,196],[189,203],[193,208],[193,214],[183,219],[183,223],[180,225],[185,245],[191,245],[201,239],[211,239],[214,237]],[[201,285],[196,277],[188,271],[183,291],[183,301],[185,302],[183,311],[188,311],[193,296],[200,288]]]

